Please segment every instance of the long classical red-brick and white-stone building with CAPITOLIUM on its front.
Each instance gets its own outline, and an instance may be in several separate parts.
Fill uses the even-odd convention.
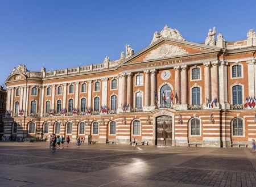
[[[4,136],[129,144],[230,147],[256,138],[256,33],[228,42],[216,29],[203,44],[167,25],[151,44],[115,61],[28,71],[6,80]]]

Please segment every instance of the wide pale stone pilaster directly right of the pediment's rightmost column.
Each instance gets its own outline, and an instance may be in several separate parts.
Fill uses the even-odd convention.
[[[219,90],[220,90],[220,104],[221,109],[229,109],[228,103],[228,71],[227,66],[228,63],[224,60],[220,61],[220,66],[218,67],[218,82],[219,82]]]

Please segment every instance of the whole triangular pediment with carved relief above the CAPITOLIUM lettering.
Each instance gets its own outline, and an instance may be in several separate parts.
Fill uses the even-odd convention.
[[[188,41],[180,41],[174,39],[163,38],[154,42],[147,48],[142,49],[133,56],[125,59],[120,65],[135,62],[148,62],[158,59],[184,57],[191,54],[202,54],[205,52],[219,51],[216,46],[208,46],[204,44],[196,44]]]

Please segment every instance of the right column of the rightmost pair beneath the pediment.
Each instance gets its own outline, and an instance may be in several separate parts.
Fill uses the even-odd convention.
[[[212,100],[217,98],[218,101],[218,60],[213,61],[211,79],[212,79]]]

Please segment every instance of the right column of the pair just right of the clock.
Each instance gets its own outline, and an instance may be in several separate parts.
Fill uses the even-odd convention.
[[[181,105],[182,109],[187,109],[188,107],[188,66],[181,66]]]

